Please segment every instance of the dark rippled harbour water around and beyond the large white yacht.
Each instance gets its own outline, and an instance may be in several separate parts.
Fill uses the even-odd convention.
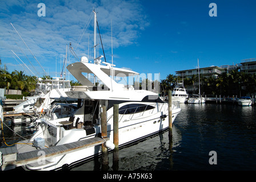
[[[22,133],[21,130],[19,130]],[[6,135],[5,135],[6,136]],[[119,150],[118,167],[109,154],[109,171],[255,170],[256,107],[215,104],[181,104],[173,123],[173,141],[168,131]],[[217,164],[209,164],[210,151]],[[102,170],[101,158],[70,170]]]

